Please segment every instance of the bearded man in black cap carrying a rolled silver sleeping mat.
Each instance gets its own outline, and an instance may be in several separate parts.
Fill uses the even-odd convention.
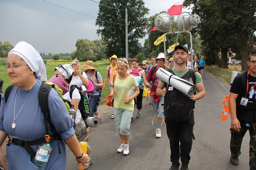
[[[172,72],[180,77],[183,78],[189,72],[186,61],[188,60],[188,49],[185,46],[176,46],[174,48],[174,56],[173,61],[175,62],[174,67],[172,68]],[[193,71],[193,70],[192,70]],[[205,90],[204,85],[202,82],[201,75],[198,72],[195,72],[195,78],[196,78],[196,89],[197,94],[193,94],[192,96],[189,96],[188,100],[199,100],[205,96]],[[193,80],[191,76],[189,77],[189,82],[193,83]],[[166,89],[166,84],[162,80],[159,81],[156,92],[157,95],[163,97],[165,96],[165,107],[168,107],[167,105],[172,107],[169,103],[170,98],[168,96],[171,96],[171,93],[173,92],[174,87],[169,86],[168,90]],[[168,93],[168,94],[167,94]],[[166,123],[166,131],[167,136],[170,140],[170,149],[171,149],[171,162],[172,166],[170,170],[178,170],[180,166],[180,157],[181,157],[181,170],[188,170],[188,163],[190,160],[190,151],[192,148],[192,133],[193,133],[193,126],[195,124],[194,120],[194,110],[192,109],[191,115],[189,117],[189,121],[175,121],[171,120],[168,117],[170,117],[172,113],[169,113],[167,109],[165,109],[165,123]],[[169,116],[168,116],[169,115]],[[189,123],[188,123],[189,122]]]

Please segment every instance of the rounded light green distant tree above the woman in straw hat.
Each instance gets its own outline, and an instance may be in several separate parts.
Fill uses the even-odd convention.
[[[78,39],[76,41],[76,58],[79,61],[87,61],[92,60],[97,55],[94,51],[96,51],[95,44],[93,41],[89,39]]]

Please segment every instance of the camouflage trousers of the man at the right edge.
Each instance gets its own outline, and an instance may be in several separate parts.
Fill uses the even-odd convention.
[[[256,123],[254,123],[254,127],[256,128]],[[239,132],[234,131],[233,129],[230,129],[231,132],[231,139],[230,139],[230,151],[231,155],[238,157],[241,154],[241,145],[242,140],[247,132],[248,128],[242,127]],[[251,169],[256,168],[256,131],[253,133],[250,132],[250,161],[249,165]]]

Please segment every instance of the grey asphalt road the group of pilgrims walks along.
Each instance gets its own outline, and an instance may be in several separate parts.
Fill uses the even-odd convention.
[[[221,101],[227,95],[229,85],[223,83],[214,75],[205,71],[203,76],[206,95],[196,102],[193,147],[190,153],[190,170],[245,170],[249,168],[249,135],[245,135],[242,144],[242,154],[239,165],[229,162],[230,150],[230,117],[221,121],[223,104]],[[152,126],[154,111],[152,105],[145,107],[143,98],[142,116],[131,122],[130,154],[124,156],[117,153],[120,145],[119,136],[115,136],[115,122],[110,119],[111,108],[105,114],[97,128],[90,132],[88,140],[93,149],[91,152],[93,164],[90,170],[168,170],[171,167],[170,145],[163,124],[161,138],[155,138],[156,119]],[[147,101],[148,103],[148,101]],[[108,109],[108,108],[107,108]],[[137,109],[134,109],[134,113]],[[134,114],[136,115],[136,114]],[[74,155],[68,151],[67,170],[76,170],[77,162]]]

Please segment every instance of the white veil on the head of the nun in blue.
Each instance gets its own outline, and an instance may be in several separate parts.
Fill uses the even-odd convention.
[[[30,44],[20,41],[16,46],[8,53],[16,54],[20,56],[28,65],[28,67],[35,72],[35,77],[42,82],[47,82],[46,68],[42,57]]]

